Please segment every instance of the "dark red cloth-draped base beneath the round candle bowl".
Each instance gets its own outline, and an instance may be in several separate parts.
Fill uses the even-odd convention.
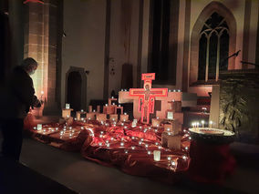
[[[192,140],[190,157],[192,162],[189,175],[199,182],[222,183],[235,168],[235,160],[228,144],[217,145]]]

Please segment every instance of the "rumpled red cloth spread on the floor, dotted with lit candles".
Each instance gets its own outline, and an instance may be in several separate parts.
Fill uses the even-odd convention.
[[[148,129],[147,126],[131,128],[129,123],[125,125],[107,127],[95,121],[74,122],[72,130],[75,131],[75,135],[72,137],[63,136],[62,138],[60,131],[64,125],[59,124],[44,125],[44,133],[30,128],[30,133],[32,138],[51,146],[68,151],[81,150],[81,155],[84,158],[105,166],[120,168],[130,175],[145,176],[172,183],[186,173],[191,160],[189,157],[189,135],[182,136],[181,150],[171,150],[161,147],[163,128],[155,132],[154,129]],[[108,142],[109,147],[107,146]],[[124,145],[120,145],[121,142]],[[188,149],[185,149],[186,147]],[[161,150],[160,161],[154,161],[154,150]],[[171,157],[174,164],[171,164],[168,157]]]

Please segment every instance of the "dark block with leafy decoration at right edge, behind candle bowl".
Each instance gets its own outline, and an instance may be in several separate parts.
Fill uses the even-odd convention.
[[[219,126],[236,133],[239,141],[259,143],[259,71],[221,73]]]

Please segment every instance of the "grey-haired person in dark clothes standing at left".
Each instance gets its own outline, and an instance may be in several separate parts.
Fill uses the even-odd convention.
[[[37,68],[36,60],[26,58],[16,66],[1,88],[0,128],[3,134],[2,155],[19,160],[22,143],[24,118],[30,107],[40,107],[35,96],[33,80],[30,77]]]

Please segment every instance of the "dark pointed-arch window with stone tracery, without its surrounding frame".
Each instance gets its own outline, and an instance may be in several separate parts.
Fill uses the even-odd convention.
[[[204,23],[199,39],[198,80],[219,79],[219,72],[227,70],[229,27],[223,16],[213,13]]]

